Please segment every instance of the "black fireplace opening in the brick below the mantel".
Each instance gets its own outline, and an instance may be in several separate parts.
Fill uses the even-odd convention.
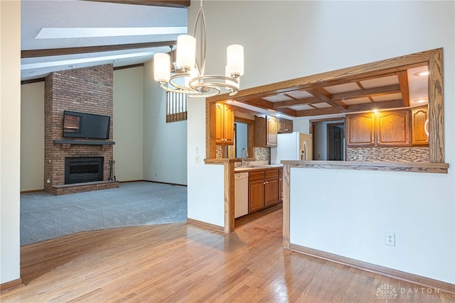
[[[103,157],[65,158],[65,184],[102,181]]]

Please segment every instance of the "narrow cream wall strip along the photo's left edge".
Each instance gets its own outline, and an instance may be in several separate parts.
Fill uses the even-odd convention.
[[[0,1],[0,284],[20,278],[21,2]]]

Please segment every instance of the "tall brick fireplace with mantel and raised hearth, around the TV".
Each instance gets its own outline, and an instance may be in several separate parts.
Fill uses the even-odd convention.
[[[70,194],[118,187],[113,176],[112,65],[53,72],[45,78],[44,95],[44,190]],[[109,139],[63,138],[63,111],[110,116]],[[98,167],[87,162],[82,171],[81,161],[95,158]],[[70,168],[71,162],[77,165]],[[95,175],[96,168],[96,179],[84,178]],[[68,182],[70,172],[73,181]]]

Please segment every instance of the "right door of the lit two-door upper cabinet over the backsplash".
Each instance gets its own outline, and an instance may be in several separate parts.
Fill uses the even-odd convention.
[[[410,111],[385,111],[377,119],[377,145],[411,145]]]

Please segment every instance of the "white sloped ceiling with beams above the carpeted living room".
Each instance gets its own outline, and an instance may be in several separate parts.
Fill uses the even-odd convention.
[[[22,0],[21,50],[53,50],[176,41],[187,33],[187,9],[77,0]],[[160,34],[160,30],[174,33]],[[55,37],[55,38],[53,38]],[[75,38],[77,37],[77,38]],[[143,46],[143,45],[139,45]],[[112,63],[114,67],[151,60],[168,45],[75,55],[23,57],[21,80],[50,72]],[[24,52],[23,52],[24,53]]]

